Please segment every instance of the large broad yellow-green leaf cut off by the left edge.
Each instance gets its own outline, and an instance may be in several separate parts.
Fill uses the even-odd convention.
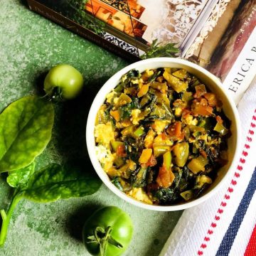
[[[28,166],[50,141],[54,110],[35,96],[11,103],[0,114],[0,173]]]

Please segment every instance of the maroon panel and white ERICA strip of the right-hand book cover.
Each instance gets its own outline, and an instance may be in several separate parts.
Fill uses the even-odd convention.
[[[256,74],[255,0],[241,1],[206,68],[238,104]]]

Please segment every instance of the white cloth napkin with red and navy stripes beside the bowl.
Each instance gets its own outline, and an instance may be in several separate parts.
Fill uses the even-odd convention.
[[[184,210],[159,256],[256,256],[256,80],[238,104],[240,159],[205,203]]]

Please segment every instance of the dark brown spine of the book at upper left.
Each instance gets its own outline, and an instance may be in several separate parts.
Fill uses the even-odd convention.
[[[127,60],[130,60],[132,62],[140,60],[139,57],[127,52],[122,48],[119,48],[118,46],[115,46],[113,43],[110,43],[109,41],[105,40],[105,38],[98,36],[89,29],[80,26],[78,23],[71,21],[69,18],[66,18],[65,16],[58,14],[56,11],[53,11],[52,9],[44,6],[43,4],[38,3],[38,1],[27,0],[27,3],[31,11],[34,11],[40,14],[41,16],[44,16],[49,20],[58,23],[60,26],[63,26],[64,28],[68,28],[68,30],[73,31],[77,33],[79,36],[82,36],[83,38],[86,38],[92,41],[93,43],[96,43],[97,45],[112,51],[112,53],[116,53],[117,55],[126,58]]]

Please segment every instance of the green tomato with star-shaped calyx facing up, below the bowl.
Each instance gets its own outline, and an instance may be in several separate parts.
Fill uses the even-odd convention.
[[[132,220],[123,210],[108,206],[87,219],[82,239],[91,255],[118,256],[127,250],[132,239]]]

